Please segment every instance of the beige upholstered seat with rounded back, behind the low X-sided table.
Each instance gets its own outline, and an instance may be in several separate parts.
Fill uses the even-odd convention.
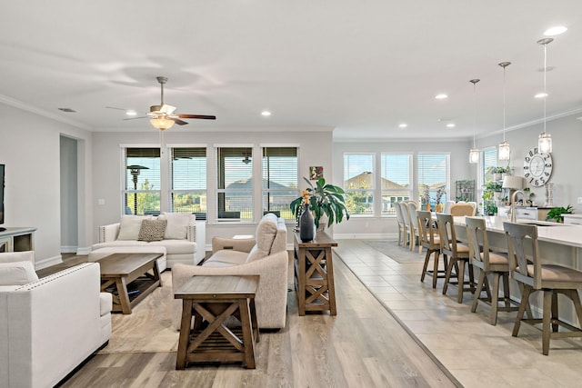
[[[286,324],[287,269],[286,225],[283,218],[266,214],[256,227],[256,238],[212,239],[212,256],[203,265],[176,264],[172,268],[174,292],[194,275],[260,276],[256,292],[256,316],[263,329],[280,329]],[[182,301],[174,301],[172,323],[180,328]]]

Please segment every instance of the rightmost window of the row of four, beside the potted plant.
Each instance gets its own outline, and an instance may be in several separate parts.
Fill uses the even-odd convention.
[[[297,148],[263,148],[263,213],[294,220],[289,204],[297,197]]]

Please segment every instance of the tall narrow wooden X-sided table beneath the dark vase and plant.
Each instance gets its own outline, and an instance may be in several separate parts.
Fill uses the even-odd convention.
[[[299,315],[306,311],[326,311],[336,315],[336,287],[331,248],[334,239],[324,232],[313,241],[303,243],[295,233],[295,288]]]

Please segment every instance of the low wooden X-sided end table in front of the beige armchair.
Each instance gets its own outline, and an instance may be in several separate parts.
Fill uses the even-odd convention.
[[[246,368],[256,368],[258,281],[258,275],[193,276],[176,291],[174,298],[182,299],[176,369],[208,362],[242,362]],[[240,328],[225,326],[233,315]]]

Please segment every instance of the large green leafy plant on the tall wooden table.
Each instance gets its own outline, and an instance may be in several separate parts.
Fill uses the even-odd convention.
[[[324,215],[327,216],[328,227],[332,224],[341,223],[344,217],[349,220],[344,199],[344,194],[346,194],[344,189],[334,184],[326,184],[325,178],[317,180],[315,186],[306,177],[303,179],[308,185],[306,191],[309,193],[309,205],[317,228],[319,228],[319,221]],[[289,204],[291,213],[295,216],[301,214],[303,198],[303,195],[301,195]]]

